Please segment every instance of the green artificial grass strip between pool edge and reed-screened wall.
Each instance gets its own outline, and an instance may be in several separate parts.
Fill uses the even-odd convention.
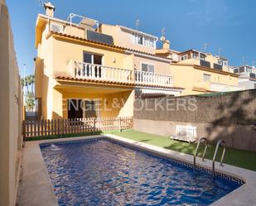
[[[170,140],[168,137],[162,137],[157,135],[152,135],[144,132],[136,131],[123,131],[123,132],[113,132],[114,135],[125,137],[134,141],[141,141],[154,146],[161,146],[163,148],[170,149],[172,151],[179,151],[185,154],[194,155],[196,150],[196,144],[189,144],[182,141]],[[222,147],[222,146],[221,146]],[[199,156],[202,155],[204,146],[200,146]],[[208,146],[205,154],[205,158],[212,160],[215,152],[215,146]],[[217,160],[220,160],[222,154],[222,148],[219,149]],[[244,151],[236,150],[232,148],[226,148],[225,152],[225,163],[229,165],[239,166],[245,169],[256,171],[256,151]]]

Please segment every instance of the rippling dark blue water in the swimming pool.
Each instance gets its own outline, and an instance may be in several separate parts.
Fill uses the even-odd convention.
[[[209,205],[239,184],[108,139],[41,145],[60,205]]]

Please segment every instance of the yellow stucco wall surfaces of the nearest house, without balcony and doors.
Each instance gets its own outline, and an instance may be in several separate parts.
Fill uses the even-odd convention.
[[[103,55],[104,65],[124,68],[126,58],[130,55],[123,54],[122,50],[111,50],[94,44],[86,44],[83,41],[72,41],[60,36],[47,36],[48,48],[41,50],[45,58],[36,58],[36,97],[41,97],[41,115],[44,118],[67,118],[68,99],[94,99],[98,100],[100,117],[133,116],[133,87],[93,85],[71,81],[58,81],[55,74],[70,76],[72,61],[83,61],[83,52],[91,52]],[[44,42],[43,42],[44,43]],[[68,51],[68,52],[66,52]],[[44,52],[46,52],[44,54]],[[113,59],[115,59],[113,63]],[[131,64],[132,65],[132,64]],[[38,79],[38,80],[37,80]],[[121,108],[104,109],[111,105],[113,98],[125,99]],[[129,103],[129,101],[132,103]],[[106,105],[106,103],[108,105]],[[127,106],[128,105],[128,106]],[[126,109],[129,107],[129,109]]]

